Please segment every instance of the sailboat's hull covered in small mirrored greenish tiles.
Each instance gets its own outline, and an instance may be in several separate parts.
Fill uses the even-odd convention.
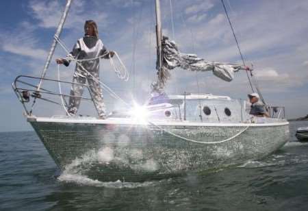
[[[288,123],[248,128],[244,124],[160,125],[160,129],[155,125],[30,123],[63,171],[107,181],[140,181],[241,164],[267,156],[289,138]],[[209,143],[236,134],[231,140]]]

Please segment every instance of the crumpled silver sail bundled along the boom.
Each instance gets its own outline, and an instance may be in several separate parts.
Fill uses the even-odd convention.
[[[164,71],[181,67],[190,71],[213,71],[214,75],[226,82],[231,82],[234,73],[245,69],[239,64],[224,64],[219,62],[207,62],[198,58],[195,54],[181,53],[174,41],[164,36],[162,40],[163,69]],[[166,74],[168,77],[168,74]]]

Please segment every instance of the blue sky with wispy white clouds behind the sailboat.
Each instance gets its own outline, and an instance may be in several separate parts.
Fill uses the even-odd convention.
[[[246,64],[253,64],[266,102],[285,106],[287,118],[308,114],[308,1],[224,2]],[[11,84],[18,75],[40,76],[65,3],[1,1],[0,132],[31,130]],[[118,53],[130,74],[129,81],[123,82],[110,61],[101,60],[101,80],[125,101],[145,101],[151,82],[156,80],[154,4],[150,0],[73,0],[64,24],[61,39],[71,49],[84,35],[84,21],[97,22],[105,47]],[[181,52],[196,53],[209,61],[241,63],[220,0],[162,0],[161,6],[163,33],[177,42]],[[55,58],[65,55],[57,47],[47,77],[57,78]],[[74,64],[60,66],[61,79],[70,82],[74,68]],[[57,90],[57,84],[45,83],[43,87]],[[68,93],[69,87],[63,86],[62,92]],[[224,82],[212,73],[175,69],[166,92],[205,92],[246,99],[251,89],[244,72],[237,73],[233,82]],[[118,101],[103,93],[107,110],[120,108]],[[58,105],[36,104],[36,115],[64,114]],[[94,114],[92,103],[82,102],[80,112]]]

